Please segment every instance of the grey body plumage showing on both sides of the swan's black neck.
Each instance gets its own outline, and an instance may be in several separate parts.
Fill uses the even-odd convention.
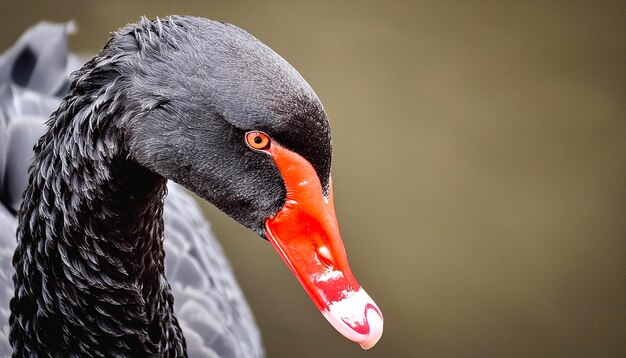
[[[67,53],[71,25],[39,24],[0,57],[0,357],[11,355],[15,212],[32,147],[83,61]],[[165,267],[190,357],[261,357],[254,318],[200,208],[174,183],[165,200]]]

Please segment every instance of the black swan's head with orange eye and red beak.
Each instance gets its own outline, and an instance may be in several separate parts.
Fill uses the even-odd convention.
[[[328,118],[291,65],[233,25],[171,17],[119,30],[87,66],[109,68],[89,78],[124,109],[132,160],[267,239],[341,334],[376,344],[382,313],[335,217]]]

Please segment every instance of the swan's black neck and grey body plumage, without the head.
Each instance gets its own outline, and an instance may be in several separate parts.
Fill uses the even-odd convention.
[[[115,36],[154,36],[150,31],[158,24],[143,20]],[[5,318],[13,296],[8,282],[17,226],[13,213],[30,157],[25,148],[43,131],[41,116],[67,89],[65,31],[47,26],[0,58],[0,317]],[[190,356],[260,356],[254,321],[198,207],[172,185],[163,207],[165,179],[137,165],[121,139],[124,132],[114,133],[121,112],[107,111],[121,94],[107,92],[101,76],[116,71],[106,51],[74,77],[37,145],[15,252],[14,355],[184,355],[173,292]],[[34,61],[20,62],[30,56],[24,53],[32,53]],[[69,67],[76,60],[71,62]],[[48,71],[35,70],[46,66]],[[111,83],[119,78],[106,77]],[[130,113],[128,103],[115,108]],[[0,331],[0,354],[8,354],[7,343]]]

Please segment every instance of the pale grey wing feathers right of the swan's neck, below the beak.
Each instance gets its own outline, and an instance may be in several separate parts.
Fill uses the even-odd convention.
[[[177,184],[165,199],[165,268],[190,357],[260,357],[261,337],[219,243]]]

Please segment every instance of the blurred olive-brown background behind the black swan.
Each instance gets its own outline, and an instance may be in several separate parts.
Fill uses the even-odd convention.
[[[0,50],[75,19],[233,23],[331,119],[352,270],[385,315],[345,340],[270,245],[204,203],[268,357],[626,356],[626,3],[85,2],[0,5]]]

